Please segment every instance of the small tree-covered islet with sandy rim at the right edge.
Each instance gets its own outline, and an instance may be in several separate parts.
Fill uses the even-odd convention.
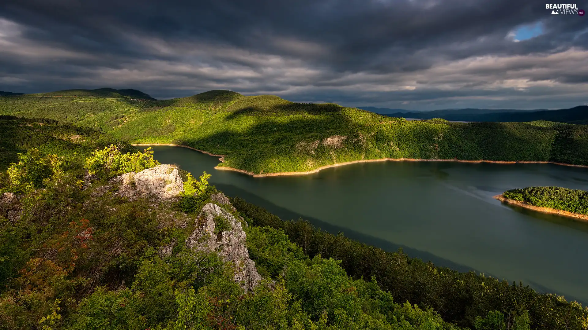
[[[562,187],[527,187],[494,198],[530,210],[556,213],[588,221],[588,191]]]

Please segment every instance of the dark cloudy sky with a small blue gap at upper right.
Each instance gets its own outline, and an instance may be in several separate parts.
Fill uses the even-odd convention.
[[[0,90],[166,99],[230,89],[415,110],[586,105],[588,15],[551,13],[536,0],[2,0]]]

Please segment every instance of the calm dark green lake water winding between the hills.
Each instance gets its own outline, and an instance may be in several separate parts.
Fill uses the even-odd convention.
[[[143,149],[146,146],[142,147]],[[302,217],[332,233],[460,271],[474,270],[588,305],[588,224],[509,206],[493,196],[512,188],[588,190],[588,169],[555,164],[356,163],[306,176],[253,178],[215,170],[218,158],[153,146],[228,196],[283,220]]]

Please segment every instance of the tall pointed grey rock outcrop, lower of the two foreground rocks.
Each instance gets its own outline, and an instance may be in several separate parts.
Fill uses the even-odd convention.
[[[186,240],[186,246],[199,251],[216,251],[225,261],[233,262],[235,282],[245,291],[252,291],[263,278],[255,269],[255,262],[249,258],[245,247],[247,235],[240,221],[213,203],[202,208],[196,221],[199,225]]]

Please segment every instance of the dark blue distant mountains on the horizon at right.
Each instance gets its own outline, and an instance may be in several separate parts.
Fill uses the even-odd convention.
[[[533,120],[549,120],[550,122],[586,124],[588,123],[588,106],[576,106],[560,110],[517,110],[517,109],[445,109],[433,111],[406,111],[402,109],[386,109],[362,107],[360,109],[380,113],[389,117],[418,119],[442,118],[463,122],[532,122]],[[374,111],[372,109],[378,109]],[[397,110],[392,112],[389,110]]]

